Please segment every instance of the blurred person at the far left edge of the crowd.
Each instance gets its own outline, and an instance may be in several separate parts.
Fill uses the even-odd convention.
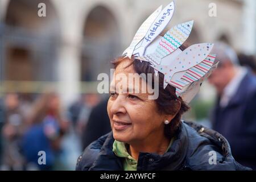
[[[21,151],[21,139],[26,123],[20,109],[18,94],[6,94],[3,111],[3,170],[23,170],[24,158]]]

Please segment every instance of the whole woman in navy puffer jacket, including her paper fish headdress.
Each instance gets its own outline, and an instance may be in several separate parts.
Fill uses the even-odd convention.
[[[172,6],[173,4],[170,3],[167,6],[168,9],[166,7],[163,10],[163,15],[170,15],[172,10],[170,7]],[[152,15],[154,16],[154,14]],[[159,14],[156,13],[156,15]],[[163,16],[159,17],[167,19],[163,18]],[[150,20],[146,20],[147,23],[148,21]],[[182,26],[189,25],[189,23],[191,22]],[[142,34],[142,31],[140,31],[140,34]],[[169,33],[167,32],[167,35],[168,37],[175,36],[172,35],[172,30]],[[143,38],[152,38],[151,36],[154,36],[154,34],[147,36],[145,33]],[[138,35],[135,36],[135,39],[137,40],[138,37]],[[166,39],[166,35],[163,38]],[[155,41],[160,42],[160,39],[162,41],[162,37],[156,38]],[[184,41],[182,40],[182,43],[179,44],[183,44]],[[151,44],[151,48],[148,49],[154,48],[155,44]],[[222,135],[196,123],[181,121],[181,115],[189,109],[184,100],[188,101],[188,97],[195,96],[193,94],[194,88],[197,85],[201,85],[200,80],[203,81],[204,76],[199,80],[195,80],[195,82],[191,82],[188,86],[184,86],[184,88],[182,86],[175,87],[174,84],[168,82],[166,77],[177,78],[177,74],[173,74],[173,71],[179,68],[178,65],[174,63],[172,64],[174,65],[173,67],[162,67],[163,57],[156,56],[156,53],[155,56],[148,56],[147,49],[138,51],[140,47],[135,49],[137,45],[133,41],[134,47],[129,47],[125,52],[125,56],[114,61],[115,72],[113,81],[110,84],[110,98],[107,108],[112,132],[99,138],[85,149],[77,161],[76,169],[89,171],[249,169],[234,160],[228,141]],[[210,46],[201,45],[200,47],[200,45],[196,45],[196,47],[199,47],[199,50],[205,48],[205,51],[210,52]],[[192,48],[190,49],[193,52]],[[177,60],[184,57],[182,55],[191,56],[186,50],[181,50],[181,47],[177,48],[177,51],[181,52]],[[168,52],[171,51],[168,50]],[[205,53],[197,54],[201,56]],[[152,61],[149,61],[147,57],[152,58]],[[159,61],[159,57],[162,60]],[[191,57],[195,58],[195,56]],[[206,60],[205,57],[203,60]],[[171,60],[171,57],[168,59]],[[185,63],[185,58],[180,60],[184,61],[184,65],[181,65],[180,68],[188,68],[184,69],[185,75],[189,68],[193,68],[193,66],[189,65],[193,64],[193,60],[191,59],[188,63]],[[198,60],[199,58],[197,57],[195,63],[199,65]],[[163,69],[167,72],[161,72]],[[156,71],[159,75],[158,80],[156,77],[152,80],[139,78],[141,73],[154,75]],[[172,72],[172,76],[168,71]],[[210,71],[210,68],[208,71]],[[208,71],[205,72],[206,76],[209,75]],[[129,80],[130,74],[133,74],[135,79],[138,78],[140,81]],[[126,85],[123,85],[123,80],[119,79],[119,75],[126,76]],[[148,89],[146,92],[142,92],[145,84],[158,88],[158,97],[155,100],[149,99],[152,93]],[[134,92],[134,90],[137,92]]]

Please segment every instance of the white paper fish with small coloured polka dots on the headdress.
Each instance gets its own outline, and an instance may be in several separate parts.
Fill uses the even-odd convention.
[[[210,43],[195,44],[181,52],[170,65],[151,65],[151,67],[164,74],[165,82],[171,82],[175,73],[186,71],[200,64],[209,55],[212,48],[213,44]],[[166,88],[167,84],[164,86]]]

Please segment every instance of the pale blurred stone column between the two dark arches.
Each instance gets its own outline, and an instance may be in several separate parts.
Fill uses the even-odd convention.
[[[72,1],[58,3],[61,26],[61,43],[57,77],[59,93],[65,106],[79,97],[80,90],[80,43],[82,41],[82,22],[77,5]]]

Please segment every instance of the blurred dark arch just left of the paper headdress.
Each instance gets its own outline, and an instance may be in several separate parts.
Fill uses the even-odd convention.
[[[110,61],[119,53],[119,28],[108,9],[96,6],[86,18],[83,34],[81,81],[96,81],[99,73],[110,73]]]

